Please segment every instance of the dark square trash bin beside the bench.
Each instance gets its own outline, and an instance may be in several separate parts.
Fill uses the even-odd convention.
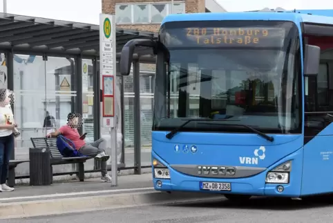
[[[51,185],[50,149],[30,148],[30,186]]]

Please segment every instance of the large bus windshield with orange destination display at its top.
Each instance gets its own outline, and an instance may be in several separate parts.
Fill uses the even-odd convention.
[[[301,133],[300,50],[292,22],[169,22],[160,42],[170,62],[157,63],[153,130],[210,118],[237,125],[191,122],[182,132],[249,132],[240,127],[248,125]]]

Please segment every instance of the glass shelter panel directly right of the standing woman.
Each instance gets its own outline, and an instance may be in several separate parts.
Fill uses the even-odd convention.
[[[21,135],[16,139],[15,159],[29,159],[30,138],[46,135],[46,62],[41,56],[14,55],[14,114]],[[29,163],[15,168],[29,175]]]

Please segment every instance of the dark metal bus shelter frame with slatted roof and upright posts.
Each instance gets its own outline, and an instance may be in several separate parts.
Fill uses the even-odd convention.
[[[137,30],[116,29],[117,61],[126,42],[131,39],[157,39],[157,33]],[[0,53],[6,57],[8,69],[8,89],[14,90],[14,62],[15,55],[36,55],[43,58],[66,57],[73,59],[75,72],[70,87],[76,91],[76,100],[72,102],[72,111],[82,114],[82,60],[93,61],[93,139],[99,139],[100,132],[100,92],[99,92],[99,25],[82,24],[70,21],[59,21],[22,15],[0,13]],[[155,63],[155,57],[148,48],[139,48],[133,57],[133,84],[134,84],[134,159],[133,168],[137,174],[141,172],[140,162],[140,63]],[[118,78],[122,78],[118,76]],[[122,82],[124,83],[124,82]],[[59,84],[59,83],[58,83]],[[122,87],[123,88],[123,87]],[[122,96],[123,100],[123,96]],[[123,105],[123,101],[122,101]],[[15,105],[14,105],[15,107]],[[15,111],[15,110],[14,110]],[[122,108],[123,112],[123,108]],[[122,115],[124,123],[124,115]],[[124,125],[122,125],[124,128]],[[122,130],[124,135],[124,130]],[[124,139],[124,137],[123,137]],[[124,163],[124,143],[122,143],[122,164]],[[15,159],[15,154],[12,154]],[[97,163],[98,164],[98,163]],[[127,168],[127,167],[126,167]],[[68,174],[64,173],[64,174]]]

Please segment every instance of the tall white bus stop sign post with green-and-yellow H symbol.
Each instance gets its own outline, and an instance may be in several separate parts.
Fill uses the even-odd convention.
[[[115,15],[99,15],[99,73],[102,86],[102,125],[111,133],[111,186],[117,186],[117,114],[115,114]]]

